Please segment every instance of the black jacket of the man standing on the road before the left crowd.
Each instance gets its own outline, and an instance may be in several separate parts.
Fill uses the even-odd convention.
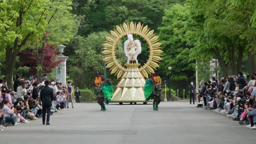
[[[40,91],[40,100],[42,101],[42,105],[51,105],[53,101],[53,88],[49,86],[45,86]]]

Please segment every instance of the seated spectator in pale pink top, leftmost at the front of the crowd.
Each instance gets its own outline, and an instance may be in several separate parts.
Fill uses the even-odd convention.
[[[15,124],[14,121],[14,117],[11,116],[14,113],[14,107],[12,109],[9,108],[9,101],[5,100],[4,103],[2,104],[2,110],[3,110],[3,115],[4,115],[4,119],[5,119],[5,123],[11,123],[13,125],[17,125]]]

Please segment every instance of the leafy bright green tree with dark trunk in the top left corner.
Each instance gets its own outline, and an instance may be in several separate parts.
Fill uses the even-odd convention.
[[[47,26],[43,17],[48,13],[48,0],[6,0],[0,5],[0,48],[6,51],[5,76],[13,83],[15,57],[28,41],[42,37]],[[12,89],[13,85],[9,85]]]

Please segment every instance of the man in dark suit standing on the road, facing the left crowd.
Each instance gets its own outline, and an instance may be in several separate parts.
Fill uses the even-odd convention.
[[[40,100],[42,101],[43,105],[43,124],[45,124],[45,114],[47,112],[47,118],[46,118],[46,125],[50,125],[50,112],[51,112],[51,104],[53,101],[53,88],[49,87],[50,81],[45,80],[44,85],[40,91]]]

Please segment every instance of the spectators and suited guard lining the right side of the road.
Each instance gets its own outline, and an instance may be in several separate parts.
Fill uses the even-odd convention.
[[[200,81],[197,99],[199,106],[233,115],[234,121],[248,124],[246,127],[256,129],[256,73],[251,77],[240,72],[237,76],[223,77],[219,81],[212,77],[208,82]],[[190,94],[194,92],[193,83]],[[190,100],[191,104],[191,100]]]

